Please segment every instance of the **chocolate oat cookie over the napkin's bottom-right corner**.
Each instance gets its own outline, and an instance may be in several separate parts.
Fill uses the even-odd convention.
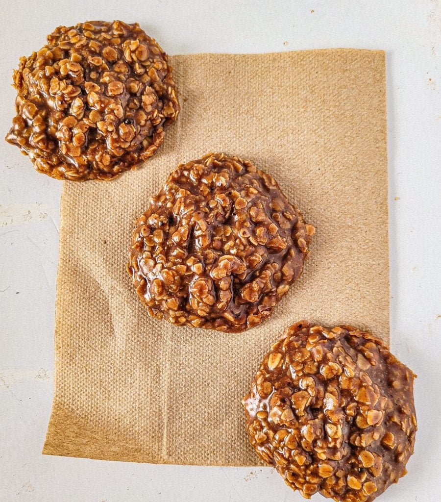
[[[370,333],[294,324],[242,401],[250,443],[306,498],[371,502],[407,472],[414,376]]]

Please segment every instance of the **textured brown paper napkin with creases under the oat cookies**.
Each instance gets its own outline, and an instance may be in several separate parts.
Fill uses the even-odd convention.
[[[163,147],[111,182],[66,182],[55,396],[44,453],[255,465],[240,404],[269,345],[309,319],[388,340],[385,56],[319,50],[171,58],[182,111]],[[180,162],[251,159],[317,227],[301,280],[249,331],[146,315],[125,272],[132,224]]]

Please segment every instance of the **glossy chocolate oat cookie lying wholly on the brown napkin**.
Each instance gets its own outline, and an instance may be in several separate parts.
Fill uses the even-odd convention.
[[[180,165],[136,221],[127,271],[149,315],[238,332],[302,273],[315,229],[272,176],[208,154]]]

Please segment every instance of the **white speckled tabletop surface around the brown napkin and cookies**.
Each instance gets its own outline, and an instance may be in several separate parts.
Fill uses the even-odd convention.
[[[5,3],[1,15],[0,136],[15,114],[12,70],[59,25],[137,21],[169,54],[386,50],[391,350],[418,374],[419,431],[409,474],[380,500],[439,500],[441,3],[16,0]],[[61,183],[35,172],[28,158],[3,141],[0,153],[0,501],[303,500],[269,467],[41,455],[53,392]]]

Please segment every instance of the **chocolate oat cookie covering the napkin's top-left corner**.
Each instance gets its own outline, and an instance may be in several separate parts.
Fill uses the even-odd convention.
[[[168,57],[137,23],[57,28],[14,72],[6,139],[53,178],[109,180],[152,156],[179,102]]]

